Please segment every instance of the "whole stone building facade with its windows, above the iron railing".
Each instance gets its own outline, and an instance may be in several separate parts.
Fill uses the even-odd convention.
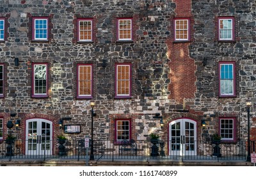
[[[83,139],[90,102],[94,139],[157,132],[169,155],[182,136],[188,151],[216,133],[223,143],[247,139],[255,8],[254,0],[0,0],[0,140],[12,131],[28,152],[31,136]],[[8,129],[10,120],[19,127]]]

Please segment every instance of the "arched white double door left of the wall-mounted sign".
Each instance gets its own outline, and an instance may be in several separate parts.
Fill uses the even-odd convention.
[[[52,121],[31,119],[26,121],[26,155],[51,155]]]

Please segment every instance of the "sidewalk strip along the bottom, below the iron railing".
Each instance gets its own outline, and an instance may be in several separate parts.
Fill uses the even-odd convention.
[[[0,166],[86,166],[80,159],[1,159]],[[253,166],[240,160],[157,160],[157,159],[102,159],[89,160],[88,166]]]

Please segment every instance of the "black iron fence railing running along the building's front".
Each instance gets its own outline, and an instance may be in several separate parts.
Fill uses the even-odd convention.
[[[111,140],[94,140],[95,160],[246,160],[248,144],[245,140],[212,143],[172,143],[172,141],[134,141],[121,143]],[[255,141],[251,141],[255,153]],[[84,139],[54,141],[0,141],[0,159],[88,159],[90,147],[84,147]]]

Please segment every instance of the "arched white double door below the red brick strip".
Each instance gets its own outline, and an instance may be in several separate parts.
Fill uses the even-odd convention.
[[[169,155],[196,155],[196,121],[172,121],[169,123],[169,139]]]

